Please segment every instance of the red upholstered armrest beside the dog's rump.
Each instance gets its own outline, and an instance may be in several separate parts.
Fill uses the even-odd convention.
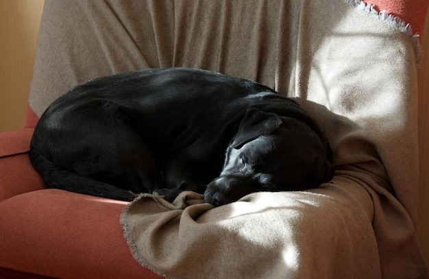
[[[0,201],[46,185],[29,160],[34,129],[0,133]]]

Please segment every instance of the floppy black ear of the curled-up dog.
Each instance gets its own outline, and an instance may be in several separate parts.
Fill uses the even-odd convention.
[[[258,136],[270,134],[282,124],[282,119],[274,113],[262,112],[257,108],[249,108],[246,111],[240,128],[231,143],[234,149],[241,148],[245,143],[253,141]]]

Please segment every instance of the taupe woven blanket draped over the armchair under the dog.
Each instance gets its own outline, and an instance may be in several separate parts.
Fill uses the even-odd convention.
[[[49,73],[32,83],[38,115],[89,78],[189,66],[297,98],[334,151],[336,175],[320,189],[219,208],[195,193],[173,205],[143,195],[121,218],[141,265],[172,278],[427,278],[415,232],[418,52],[400,22],[358,0],[57,1],[45,12],[73,12],[85,28],[40,41],[51,51],[36,60],[35,75]],[[51,60],[66,66],[42,71]]]

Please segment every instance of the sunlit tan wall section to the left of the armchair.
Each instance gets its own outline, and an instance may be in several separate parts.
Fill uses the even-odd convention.
[[[0,132],[23,127],[44,0],[0,0]]]

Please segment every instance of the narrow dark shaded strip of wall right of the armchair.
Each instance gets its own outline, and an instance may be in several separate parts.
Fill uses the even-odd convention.
[[[419,69],[419,234],[421,247],[429,263],[429,10],[421,36],[424,58]]]

